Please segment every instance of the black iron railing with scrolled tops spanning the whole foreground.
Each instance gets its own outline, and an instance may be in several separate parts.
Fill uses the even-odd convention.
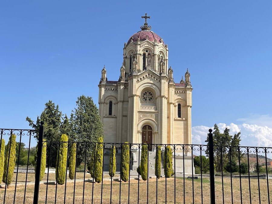
[[[208,145],[46,141],[43,125],[39,133],[35,130],[0,131],[0,150],[4,145],[6,171],[14,168],[11,182],[0,184],[0,203],[270,203],[272,160],[270,162],[268,157],[272,147],[213,145],[211,129]],[[13,143],[7,145],[12,141],[11,135],[17,136],[16,158],[13,157]],[[39,138],[37,153],[34,138]],[[46,169],[40,181],[45,164],[42,160],[44,147]],[[109,160],[114,157],[113,147],[116,148],[114,176],[114,164],[109,168]],[[72,148],[76,148],[73,179],[69,177]],[[102,150],[102,155],[98,150]],[[34,163],[33,157],[36,158]],[[137,168],[142,158],[142,165],[147,159],[147,167],[139,168],[138,171],[143,171],[139,175]],[[15,167],[8,165],[11,160],[16,160]],[[99,162],[102,162],[100,166]],[[56,171],[56,165],[58,168],[65,165],[64,175],[59,169]],[[92,172],[102,172],[101,182],[96,182],[99,178],[95,175],[92,178]],[[128,179],[123,178],[126,173]],[[62,185],[57,184],[59,176],[64,176]]]

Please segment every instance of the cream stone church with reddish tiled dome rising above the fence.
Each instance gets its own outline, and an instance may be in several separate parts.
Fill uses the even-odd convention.
[[[174,82],[168,46],[151,31],[150,17],[142,18],[141,30],[124,44],[118,81],[109,81],[102,69],[98,86],[104,142],[191,144],[190,74],[187,69],[184,79]],[[183,157],[191,159],[190,153],[186,150]]]

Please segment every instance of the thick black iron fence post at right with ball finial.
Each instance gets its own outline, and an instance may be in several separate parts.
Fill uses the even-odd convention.
[[[213,165],[213,137],[209,129],[209,164],[210,164],[210,196],[211,204],[215,204],[214,165]]]

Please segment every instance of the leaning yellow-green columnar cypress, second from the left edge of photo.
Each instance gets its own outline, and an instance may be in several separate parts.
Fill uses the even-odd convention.
[[[11,184],[13,171],[15,168],[15,161],[16,161],[16,135],[12,134],[9,137],[8,144],[7,144],[7,154],[5,157],[5,164],[4,164],[4,172],[3,172],[3,179],[2,181],[6,183],[8,186]]]

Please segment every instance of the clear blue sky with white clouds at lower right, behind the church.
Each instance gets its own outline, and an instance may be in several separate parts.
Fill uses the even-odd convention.
[[[241,144],[272,146],[271,10],[271,1],[2,1],[0,128],[30,128],[25,118],[48,100],[67,115],[82,94],[98,105],[104,64],[118,80],[124,42],[147,13],[174,81],[191,74],[193,141],[220,123],[241,131]]]

